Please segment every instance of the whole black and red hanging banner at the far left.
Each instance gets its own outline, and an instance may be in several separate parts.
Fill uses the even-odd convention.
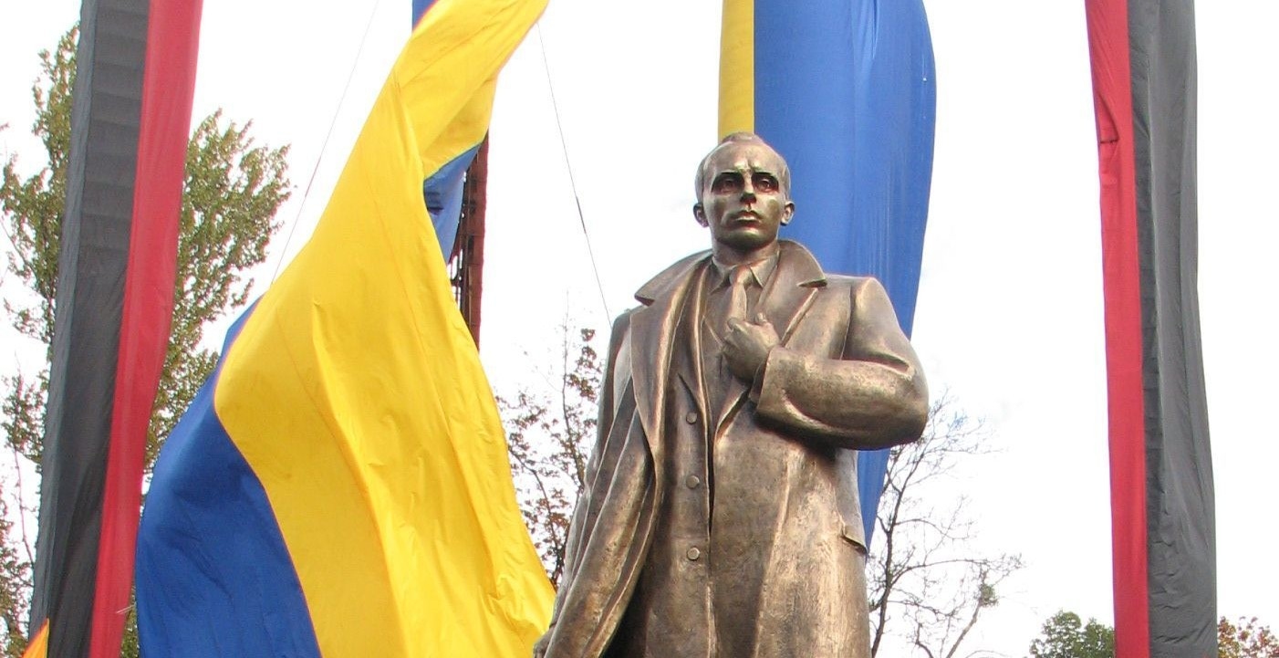
[[[200,13],[201,0],[81,10],[28,655],[120,652],[173,314]]]

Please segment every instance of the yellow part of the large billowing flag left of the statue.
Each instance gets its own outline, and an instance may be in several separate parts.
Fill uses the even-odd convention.
[[[485,134],[545,0],[439,0],[215,408],[266,489],[326,657],[527,657],[553,591],[422,181]]]

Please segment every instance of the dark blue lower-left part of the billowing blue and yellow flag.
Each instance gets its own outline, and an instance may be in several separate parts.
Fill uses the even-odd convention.
[[[235,321],[223,355],[252,311]],[[318,658],[266,492],[214,413],[220,370],[165,442],[151,479],[134,567],[142,655],[256,655],[270,646],[272,657]],[[180,609],[155,603],[171,603],[159,589],[175,582],[191,593]]]

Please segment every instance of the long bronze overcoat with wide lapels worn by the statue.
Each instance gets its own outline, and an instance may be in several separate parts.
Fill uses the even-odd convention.
[[[546,658],[627,654],[610,643],[625,636],[619,623],[670,495],[665,451],[678,433],[705,440],[709,431],[673,420],[686,413],[714,424],[716,462],[735,465],[716,474],[710,556],[723,562],[711,566],[720,575],[712,577],[715,599],[732,607],[737,621],[720,625],[712,652],[868,657],[854,449],[918,438],[926,384],[879,282],[828,277],[802,246],[779,245],[756,311],[781,343],[753,387],[730,384],[723,411],[701,408],[700,378],[671,367],[680,314],[696,307],[687,302],[700,294],[710,252],[645,284],[636,294],[642,306],[614,323],[599,437],[573,515],[555,614],[538,643]],[[741,622],[743,611],[748,623]]]

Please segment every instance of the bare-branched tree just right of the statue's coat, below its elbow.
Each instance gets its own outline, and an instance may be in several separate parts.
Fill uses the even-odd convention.
[[[897,636],[929,658],[954,658],[982,612],[999,604],[998,585],[1022,567],[1018,556],[973,549],[966,497],[935,495],[959,462],[986,452],[986,435],[941,396],[920,440],[890,449],[866,565],[872,655]],[[939,499],[954,502],[939,507]]]

